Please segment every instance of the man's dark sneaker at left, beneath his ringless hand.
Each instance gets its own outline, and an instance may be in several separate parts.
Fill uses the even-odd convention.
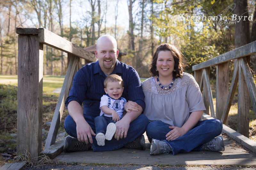
[[[76,138],[67,137],[64,143],[64,152],[76,152],[76,151],[88,151],[91,149],[91,144],[85,144],[85,142],[80,142]]]

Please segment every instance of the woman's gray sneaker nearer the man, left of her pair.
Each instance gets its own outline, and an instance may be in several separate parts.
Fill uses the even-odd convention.
[[[172,152],[172,148],[164,141],[152,139],[150,155],[158,155]]]

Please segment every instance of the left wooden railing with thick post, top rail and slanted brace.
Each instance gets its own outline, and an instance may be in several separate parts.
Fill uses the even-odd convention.
[[[68,53],[68,69],[54,111],[44,148],[55,143],[64,102],[72,79],[86,63],[96,61],[95,55],[44,28],[16,28],[18,36],[18,108],[17,155],[28,151],[33,158],[42,148],[42,97],[44,44]]]

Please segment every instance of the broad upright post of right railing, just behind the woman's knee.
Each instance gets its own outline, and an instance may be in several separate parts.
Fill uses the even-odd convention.
[[[216,68],[216,119],[221,120],[228,98],[229,62],[218,64]]]

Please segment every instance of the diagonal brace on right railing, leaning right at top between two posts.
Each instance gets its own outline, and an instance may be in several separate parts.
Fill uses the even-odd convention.
[[[229,92],[228,92],[227,102],[226,102],[226,105],[225,105],[225,108],[224,108],[224,111],[223,111],[223,114],[222,114],[222,117],[221,117],[221,122],[223,124],[227,123],[228,113],[229,113],[229,110],[230,110],[230,107],[232,105],[232,101],[233,101],[233,98],[234,98],[234,95],[235,95],[235,92],[236,92],[237,82],[238,82],[238,64],[236,64],[234,66],[233,78],[232,78],[230,89],[229,89]]]

